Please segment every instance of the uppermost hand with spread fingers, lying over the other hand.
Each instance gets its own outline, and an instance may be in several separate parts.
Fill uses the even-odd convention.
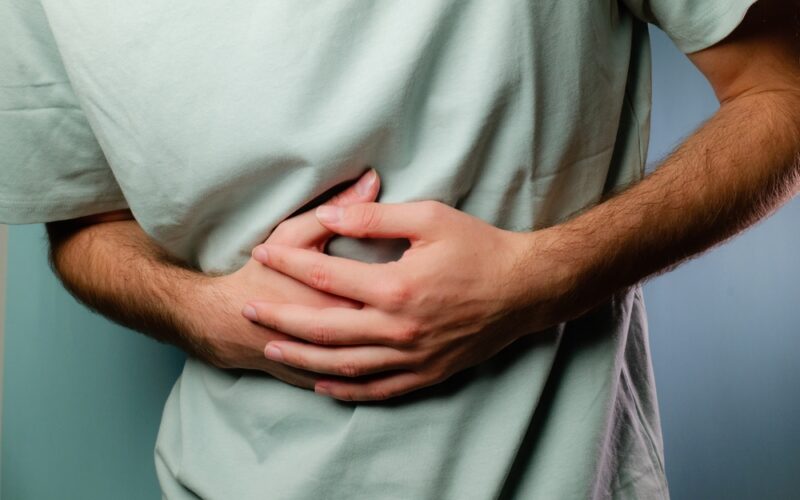
[[[272,341],[275,361],[337,377],[315,391],[381,400],[436,384],[519,337],[562,321],[566,273],[535,262],[544,231],[518,233],[435,201],[322,206],[320,222],[355,238],[406,238],[387,263],[364,263],[265,243],[253,257],[360,309],[253,301],[250,319],[295,341]],[[545,265],[542,265],[545,264]],[[548,263],[549,264],[549,263]]]

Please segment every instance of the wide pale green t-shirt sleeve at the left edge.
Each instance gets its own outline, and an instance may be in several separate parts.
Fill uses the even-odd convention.
[[[89,127],[42,7],[0,2],[0,222],[127,208]]]

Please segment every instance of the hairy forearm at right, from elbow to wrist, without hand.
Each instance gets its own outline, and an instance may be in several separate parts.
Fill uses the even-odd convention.
[[[585,310],[714,246],[797,193],[799,113],[790,90],[724,103],[643,181],[546,229],[530,258],[544,252]]]

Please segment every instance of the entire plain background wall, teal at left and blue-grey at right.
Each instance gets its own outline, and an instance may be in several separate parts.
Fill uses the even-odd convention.
[[[651,162],[716,109],[654,33]],[[675,499],[800,496],[800,199],[645,286]],[[181,355],[75,303],[43,226],[9,231],[3,500],[150,499],[153,444]]]

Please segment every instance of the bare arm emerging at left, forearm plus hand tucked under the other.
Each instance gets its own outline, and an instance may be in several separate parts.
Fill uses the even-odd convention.
[[[338,206],[375,200],[380,178],[374,169],[329,200]],[[133,219],[119,210],[47,225],[51,263],[68,290],[90,308],[220,368],[261,370],[310,389],[318,375],[266,359],[264,344],[287,339],[244,319],[244,302],[263,297],[316,307],[360,307],[320,292],[254,259],[228,275],[209,276],[168,256]],[[333,235],[313,212],[279,224],[267,241],[319,252]]]

